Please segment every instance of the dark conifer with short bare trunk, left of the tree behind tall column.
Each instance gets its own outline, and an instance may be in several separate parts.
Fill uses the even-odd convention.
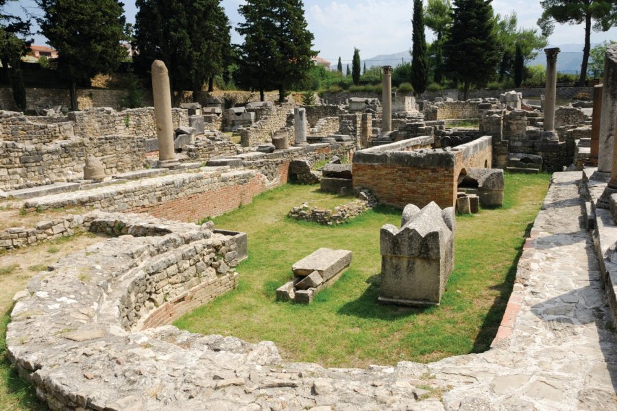
[[[58,71],[69,81],[71,108],[77,110],[75,85],[98,73],[111,73],[126,57],[122,3],[117,0],[36,0],[37,19],[49,45],[58,50]]]

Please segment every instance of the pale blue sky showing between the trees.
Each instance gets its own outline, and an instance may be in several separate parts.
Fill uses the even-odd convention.
[[[238,6],[243,0],[223,0],[222,4],[235,27],[241,16]],[[134,0],[124,0],[127,21],[134,23],[136,8]],[[521,27],[537,27],[535,22],[542,14],[537,0],[493,0],[493,8],[499,14],[516,10]],[[34,0],[12,1],[6,10],[23,14],[21,8],[37,14]],[[309,29],[315,34],[315,49],[326,60],[335,63],[341,56],[343,63],[350,62],[354,47],[360,49],[361,58],[380,54],[393,54],[411,48],[411,16],[413,0],[305,0],[304,10]],[[557,25],[549,38],[552,45],[582,44],[582,25]],[[45,44],[43,36],[34,36],[35,44]],[[426,30],[426,39],[433,34]],[[617,39],[617,27],[608,32],[592,32],[592,42]],[[232,30],[232,41],[241,38]],[[582,47],[581,47],[582,48]]]

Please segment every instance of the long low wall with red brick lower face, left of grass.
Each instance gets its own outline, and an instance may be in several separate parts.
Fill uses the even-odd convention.
[[[243,169],[204,167],[195,172],[163,175],[125,184],[38,197],[25,203],[29,210],[67,206],[93,207],[106,212],[148,212],[154,216],[197,221],[248,204],[259,193],[286,184],[289,162],[295,158],[349,158],[353,145],[309,145],[244,158]],[[347,153],[347,154],[346,154]]]

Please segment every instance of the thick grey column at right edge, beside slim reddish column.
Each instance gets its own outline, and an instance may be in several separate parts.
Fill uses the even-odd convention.
[[[613,135],[617,123],[617,45],[606,50],[603,83],[598,137],[598,172],[611,173],[614,164]]]

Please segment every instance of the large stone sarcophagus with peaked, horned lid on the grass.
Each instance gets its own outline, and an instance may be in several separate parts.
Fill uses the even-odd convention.
[[[434,201],[422,210],[407,205],[400,229],[381,227],[379,301],[438,306],[454,267],[455,210]]]

